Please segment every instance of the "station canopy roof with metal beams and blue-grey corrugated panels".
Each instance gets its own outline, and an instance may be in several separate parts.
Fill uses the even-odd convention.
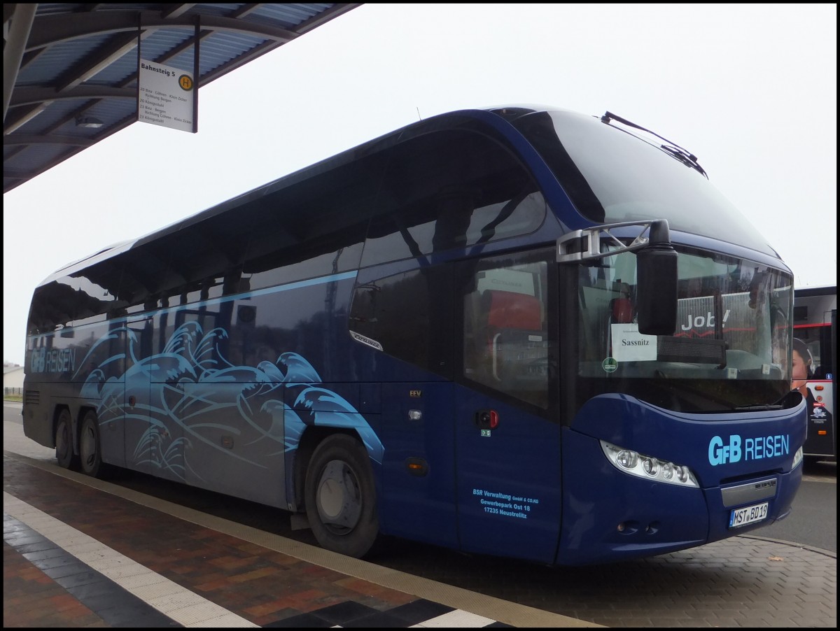
[[[137,121],[142,58],[196,85],[359,4],[3,4],[3,193]]]

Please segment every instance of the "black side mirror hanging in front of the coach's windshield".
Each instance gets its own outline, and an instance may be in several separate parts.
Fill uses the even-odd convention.
[[[650,244],[636,253],[638,332],[672,336],[677,328],[677,253],[667,222],[654,222]]]

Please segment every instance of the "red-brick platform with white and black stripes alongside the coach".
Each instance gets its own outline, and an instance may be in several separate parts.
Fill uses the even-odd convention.
[[[66,471],[3,425],[4,627],[600,626]]]

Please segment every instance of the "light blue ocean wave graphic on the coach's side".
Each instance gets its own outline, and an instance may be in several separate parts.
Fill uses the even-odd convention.
[[[219,458],[268,467],[270,458],[296,450],[310,425],[356,430],[370,457],[382,462],[384,446],[367,420],[319,385],[321,377],[305,357],[283,352],[273,363],[235,366],[221,352],[220,342],[227,339],[222,328],[205,333],[198,322],[187,322],[172,333],[163,352],[150,357],[137,356],[137,334],[128,327],[109,331],[92,346],[82,366],[125,340],[124,353],[112,352],[90,370],[81,396],[100,401],[103,425],[137,424],[132,435],[139,439],[126,446],[129,465],[152,467],[181,481],[188,472],[202,479],[208,467],[218,467],[191,460],[202,446],[204,454],[209,449]],[[127,366],[123,375],[106,378],[105,367],[120,361]],[[286,404],[292,399],[291,406]],[[239,437],[239,445],[248,449],[234,452],[220,445],[220,433]]]

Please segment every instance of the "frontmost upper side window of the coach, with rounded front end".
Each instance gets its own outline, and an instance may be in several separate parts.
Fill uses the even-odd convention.
[[[545,217],[536,183],[499,143],[465,130],[391,149],[362,266],[526,234]]]

